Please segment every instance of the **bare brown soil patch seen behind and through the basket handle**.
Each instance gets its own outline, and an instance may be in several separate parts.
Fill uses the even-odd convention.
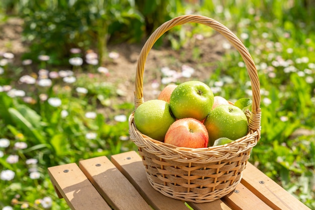
[[[182,65],[188,65],[195,69],[192,78],[182,78],[179,81],[200,80],[209,78],[211,72],[216,67],[217,61],[225,53],[222,43],[224,37],[214,34],[204,40],[198,40],[194,45],[188,45],[180,50],[174,50],[169,46],[153,48],[150,50],[145,62],[143,75],[143,95],[145,100],[156,98],[152,82],[161,84],[162,67],[169,67],[180,72]],[[120,56],[114,62],[106,65],[111,72],[111,81],[118,84],[118,88],[126,92],[125,101],[133,101],[133,91],[135,90],[135,76],[137,60],[144,43],[110,45],[109,51],[117,51]],[[193,54],[194,48],[198,48],[198,57]]]

